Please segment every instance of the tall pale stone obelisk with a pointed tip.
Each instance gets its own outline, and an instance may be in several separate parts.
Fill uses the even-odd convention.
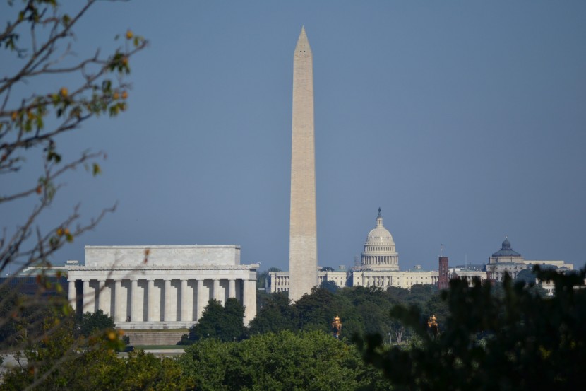
[[[293,56],[289,299],[294,302],[318,284],[313,139],[313,57],[305,28],[301,28]]]

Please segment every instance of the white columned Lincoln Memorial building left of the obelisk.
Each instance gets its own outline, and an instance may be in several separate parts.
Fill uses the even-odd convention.
[[[258,264],[241,265],[237,245],[86,246],[85,266],[66,265],[77,313],[102,310],[124,329],[191,327],[210,299],[256,316]]]

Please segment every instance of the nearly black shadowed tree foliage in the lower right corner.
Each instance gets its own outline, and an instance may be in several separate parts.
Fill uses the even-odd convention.
[[[586,271],[557,274],[545,298],[509,276],[499,290],[478,279],[450,281],[442,297],[443,330],[429,328],[414,306],[393,315],[417,332],[410,349],[383,349],[380,337],[359,340],[366,362],[383,370],[397,390],[572,390],[586,364]]]

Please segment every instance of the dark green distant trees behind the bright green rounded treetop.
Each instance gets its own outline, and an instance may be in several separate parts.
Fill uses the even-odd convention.
[[[337,288],[326,282],[292,305],[287,293],[262,295],[258,314],[248,329],[242,326],[244,308],[237,300],[228,299],[223,307],[216,300],[210,300],[200,322],[191,327],[183,343],[190,344],[208,337],[239,341],[256,334],[284,330],[331,333],[335,316],[342,319],[342,339],[349,339],[354,334],[381,334],[393,342],[403,342],[409,329],[390,317],[394,305],[418,308],[423,315],[438,316],[440,322],[446,317],[446,304],[441,301],[435,286],[414,285],[410,291],[392,287],[383,291],[374,286]]]

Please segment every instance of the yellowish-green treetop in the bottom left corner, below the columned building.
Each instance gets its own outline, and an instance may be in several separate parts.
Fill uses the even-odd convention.
[[[40,342],[25,349],[4,375],[0,390],[186,390],[193,385],[177,361],[133,351],[119,358],[119,334],[93,332],[76,338],[72,316],[44,318]],[[89,342],[89,343],[88,343]]]

